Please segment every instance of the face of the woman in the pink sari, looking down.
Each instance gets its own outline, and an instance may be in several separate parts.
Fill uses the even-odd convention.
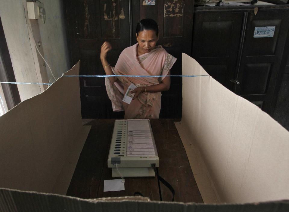
[[[141,54],[151,52],[157,44],[158,36],[154,30],[143,30],[136,34],[138,52]]]

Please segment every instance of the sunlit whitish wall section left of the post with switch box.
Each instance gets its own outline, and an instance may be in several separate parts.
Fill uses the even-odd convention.
[[[38,82],[22,0],[1,0],[0,16],[17,82]],[[17,85],[21,100],[40,93],[39,85]]]

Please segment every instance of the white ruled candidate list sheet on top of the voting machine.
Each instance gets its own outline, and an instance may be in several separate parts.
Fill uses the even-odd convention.
[[[148,121],[129,120],[127,156],[156,156]]]

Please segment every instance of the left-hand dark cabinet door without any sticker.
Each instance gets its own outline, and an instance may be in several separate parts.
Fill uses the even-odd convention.
[[[192,56],[222,85],[234,90],[243,13],[200,12],[194,16]]]

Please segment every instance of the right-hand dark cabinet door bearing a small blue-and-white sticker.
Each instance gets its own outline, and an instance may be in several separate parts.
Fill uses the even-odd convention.
[[[254,35],[261,27],[270,27],[274,32]],[[237,76],[236,93],[271,114],[277,76],[280,70],[287,33],[289,10],[259,10],[248,13],[244,50]],[[261,31],[261,33],[266,33]],[[285,56],[286,57],[286,56]],[[287,57],[286,57],[287,58]],[[276,95],[276,94],[275,94]]]

